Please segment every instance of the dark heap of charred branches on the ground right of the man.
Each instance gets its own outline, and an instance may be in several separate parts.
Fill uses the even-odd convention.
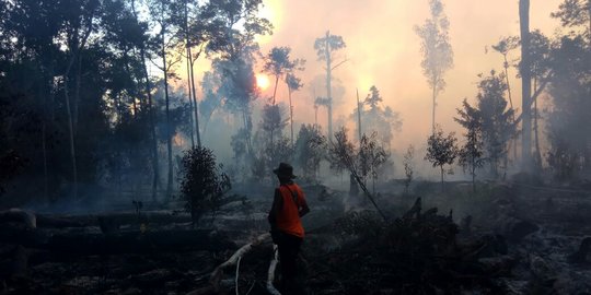
[[[513,257],[495,250],[494,237],[459,244],[451,212],[422,211],[420,198],[399,219],[384,222],[371,211],[350,212],[335,228],[340,247],[305,253],[315,294],[502,293],[497,279],[515,264]]]

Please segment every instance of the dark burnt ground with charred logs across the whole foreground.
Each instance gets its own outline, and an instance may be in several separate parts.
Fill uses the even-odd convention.
[[[386,221],[362,197],[303,188],[312,212],[300,267],[310,294],[591,294],[584,188],[505,182],[473,192],[468,184],[419,182],[413,194],[376,196]],[[267,231],[264,196],[271,189],[244,193],[196,229],[174,208],[135,212],[131,203],[93,214],[37,213],[36,228],[4,220],[0,293],[235,294],[235,266],[218,291],[210,274]],[[271,258],[269,240],[243,257],[239,294],[267,294]]]

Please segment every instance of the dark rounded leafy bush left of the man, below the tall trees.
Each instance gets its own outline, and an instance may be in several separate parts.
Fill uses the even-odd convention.
[[[181,169],[181,193],[194,225],[204,214],[216,212],[230,189],[230,178],[221,166],[217,166],[211,150],[197,146],[185,152]]]

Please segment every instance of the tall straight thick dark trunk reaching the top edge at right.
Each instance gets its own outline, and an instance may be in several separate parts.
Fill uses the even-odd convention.
[[[519,0],[521,32],[522,170],[532,170],[532,74],[530,64],[530,0]]]

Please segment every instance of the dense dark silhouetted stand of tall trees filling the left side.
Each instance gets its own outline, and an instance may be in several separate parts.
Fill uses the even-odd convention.
[[[0,1],[0,158],[11,167],[0,186],[11,178],[20,203],[81,200],[101,187],[151,188],[153,198],[165,188],[170,198],[175,141],[200,144],[198,58],[234,82],[224,95],[250,121],[254,37],[271,28],[259,5]],[[187,63],[189,88],[171,86]]]

